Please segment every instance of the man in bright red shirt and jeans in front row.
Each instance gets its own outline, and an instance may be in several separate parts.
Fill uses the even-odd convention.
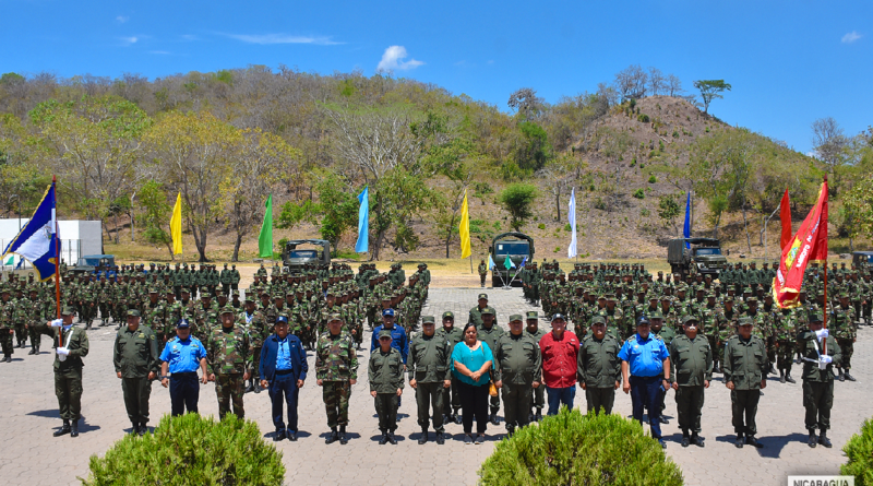
[[[552,316],[552,332],[542,336],[539,348],[542,354],[542,381],[548,387],[549,415],[558,415],[562,404],[573,408],[579,340],[566,330],[566,319],[555,313]]]

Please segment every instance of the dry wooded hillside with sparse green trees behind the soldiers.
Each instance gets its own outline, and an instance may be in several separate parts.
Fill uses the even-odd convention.
[[[707,110],[720,92],[710,93]],[[841,237],[832,249],[865,244],[873,131],[848,138],[834,120],[820,120],[813,158],[701,106],[675,76],[638,66],[555,104],[521,88],[509,95],[509,110],[360,72],[7,73],[0,212],[32,211],[47,175],[57,174],[61,214],[101,220],[107,251],[168,260],[169,213],[181,193],[186,246],[196,249],[188,259],[250,261],[272,193],[277,246],[324,237],[339,256],[361,258],[352,252],[357,194],[369,187],[364,257],[457,258],[466,190],[476,257],[493,235],[517,227],[536,238],[538,257],[560,258],[575,188],[579,253],[659,258],[681,232],[693,191],[695,235],[761,257],[763,221],[782,191],[789,188],[798,222],[830,174],[832,235]],[[510,194],[524,208],[507,211]],[[778,228],[777,214],[770,258]]]

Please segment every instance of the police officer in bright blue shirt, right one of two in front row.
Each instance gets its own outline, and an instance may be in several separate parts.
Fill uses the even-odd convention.
[[[650,331],[648,318],[641,316],[636,321],[636,333],[627,337],[619,352],[624,379],[622,390],[631,393],[634,419],[641,425],[643,407],[648,410],[651,437],[666,449],[661,439],[660,410],[661,398],[670,388],[670,353],[663,340]]]

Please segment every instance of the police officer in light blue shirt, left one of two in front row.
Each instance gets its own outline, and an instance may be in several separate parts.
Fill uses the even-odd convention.
[[[191,324],[186,319],[176,324],[176,337],[167,341],[160,361],[160,384],[170,389],[172,415],[182,415],[186,410],[196,413],[200,398],[198,368],[202,371],[201,382],[208,382],[206,348],[191,335]]]

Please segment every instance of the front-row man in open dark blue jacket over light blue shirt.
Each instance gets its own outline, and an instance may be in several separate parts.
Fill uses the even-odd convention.
[[[273,441],[277,442],[285,437],[296,441],[297,396],[309,371],[307,353],[300,340],[288,334],[288,318],[279,316],[274,329],[276,333],[266,339],[261,351],[261,388],[267,389],[273,402],[273,425],[276,426]],[[282,419],[283,395],[288,405],[287,429]]]

